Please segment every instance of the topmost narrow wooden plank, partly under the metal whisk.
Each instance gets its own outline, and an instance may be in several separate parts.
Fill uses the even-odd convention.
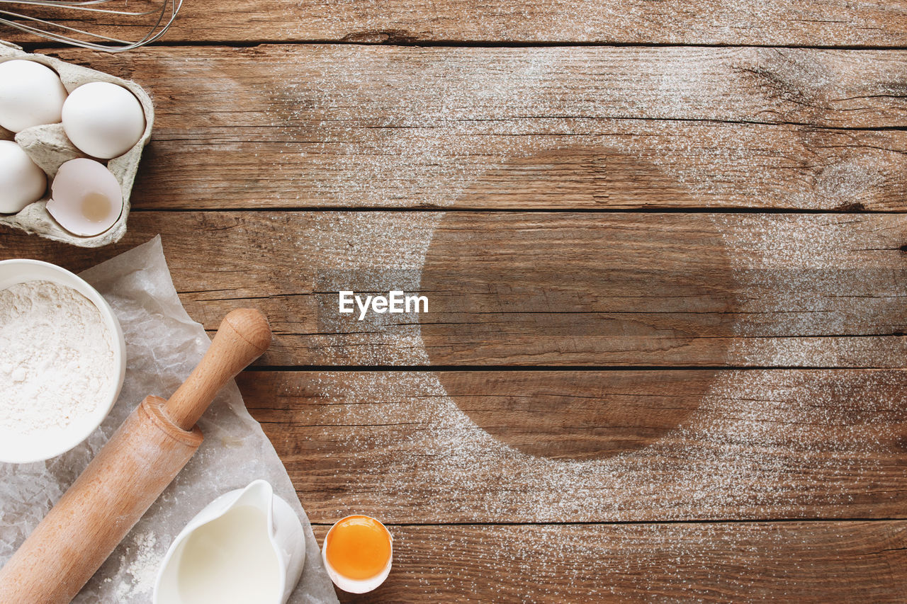
[[[894,46],[907,44],[905,14],[902,0],[229,0],[214,12],[184,3],[166,40]],[[89,27],[141,37],[137,27]]]

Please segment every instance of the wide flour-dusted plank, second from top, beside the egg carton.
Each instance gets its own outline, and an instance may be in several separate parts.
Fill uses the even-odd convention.
[[[153,94],[144,209],[907,209],[904,51],[54,54]]]

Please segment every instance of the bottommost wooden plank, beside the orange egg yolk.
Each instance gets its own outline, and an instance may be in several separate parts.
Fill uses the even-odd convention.
[[[392,526],[394,570],[349,602],[907,599],[907,525]],[[327,527],[315,527],[318,541]]]

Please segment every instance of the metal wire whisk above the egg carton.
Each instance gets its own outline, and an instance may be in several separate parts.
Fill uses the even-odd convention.
[[[166,32],[180,11],[182,0],[150,0],[149,10],[128,11],[107,8],[113,0],[0,0],[0,24],[9,25],[28,34],[39,35],[54,42],[72,44],[83,48],[119,53],[138,48],[154,42]],[[80,20],[85,16],[110,17],[117,20],[120,26],[134,27],[145,24],[141,32],[144,35],[139,40],[122,40],[117,37],[91,32],[73,25],[54,21],[51,15],[29,15],[20,11],[29,8],[48,11],[54,16],[60,15],[62,20]],[[47,18],[44,18],[47,16]]]

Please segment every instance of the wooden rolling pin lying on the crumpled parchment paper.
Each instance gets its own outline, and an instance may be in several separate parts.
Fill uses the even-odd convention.
[[[66,604],[201,444],[195,423],[220,387],[261,356],[271,330],[239,308],[170,400],[148,396],[0,570],[3,604]]]

